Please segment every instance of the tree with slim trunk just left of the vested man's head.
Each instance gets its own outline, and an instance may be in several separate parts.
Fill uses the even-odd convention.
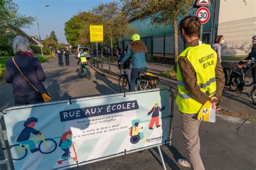
[[[192,6],[191,0],[158,0],[132,1],[122,0],[123,10],[129,17],[138,17],[142,20],[151,19],[150,24],[155,27],[173,26],[174,33],[174,69],[177,70],[178,58],[178,17],[188,12]]]

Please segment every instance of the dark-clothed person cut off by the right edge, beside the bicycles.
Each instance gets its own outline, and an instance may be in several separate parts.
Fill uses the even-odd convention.
[[[256,58],[256,35],[252,37],[252,49],[248,56],[239,62],[239,65],[243,65],[244,63],[251,62]],[[255,65],[255,61],[251,62],[251,68]],[[252,69],[252,77],[254,81],[254,86],[256,86],[256,67]],[[256,96],[255,96],[256,97]]]

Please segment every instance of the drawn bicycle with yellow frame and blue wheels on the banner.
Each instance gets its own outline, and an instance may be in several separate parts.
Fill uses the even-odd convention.
[[[38,144],[39,152],[43,154],[49,154],[56,150],[57,143],[53,139],[45,139],[43,134],[39,138],[30,138],[29,140],[35,141]],[[12,152],[12,159],[13,160],[22,160],[28,154],[28,147],[29,145],[23,144],[15,144],[10,147]],[[15,154],[16,153],[16,154]]]

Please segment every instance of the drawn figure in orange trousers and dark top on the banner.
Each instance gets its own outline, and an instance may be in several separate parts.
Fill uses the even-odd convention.
[[[151,116],[151,121],[149,124],[149,129],[153,129],[154,124],[156,125],[157,128],[159,128],[161,125],[159,125],[159,112],[163,111],[165,109],[165,106],[163,106],[162,108],[159,107],[158,102],[156,102],[154,104],[154,106],[152,107],[152,109],[147,113],[147,116]]]

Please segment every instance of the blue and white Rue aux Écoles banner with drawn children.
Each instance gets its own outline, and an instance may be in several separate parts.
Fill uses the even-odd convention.
[[[15,169],[52,169],[166,143],[169,89],[115,94],[4,115]]]

